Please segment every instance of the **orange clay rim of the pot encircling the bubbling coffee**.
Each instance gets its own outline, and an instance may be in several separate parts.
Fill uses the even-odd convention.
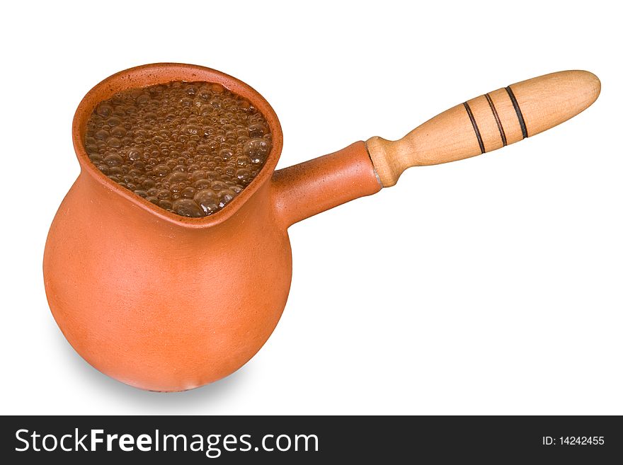
[[[190,218],[182,217],[166,209],[154,205],[152,202],[145,200],[143,197],[136,195],[131,190],[123,188],[115,183],[114,180],[105,176],[98,170],[93,162],[88,158],[84,147],[84,132],[86,130],[86,122],[88,117],[93,113],[93,109],[101,101],[112,97],[115,93],[123,91],[127,88],[137,88],[145,86],[153,86],[156,84],[165,84],[171,81],[207,81],[221,84],[227,90],[246,98],[248,101],[264,115],[270,132],[273,134],[273,147],[270,149],[268,158],[264,166],[261,168],[258,176],[249,183],[234,199],[227,204],[226,207],[220,209],[215,214],[207,217]],[[229,76],[222,71],[202,67],[195,64],[183,63],[152,63],[143,64],[138,67],[132,67],[119,71],[118,73],[108,76],[106,79],[96,84],[90,91],[86,93],[84,98],[76,108],[74,120],[72,123],[72,138],[74,141],[74,151],[83,172],[96,180],[109,190],[121,195],[126,200],[134,203],[138,207],[149,213],[156,215],[168,222],[178,224],[179,226],[190,228],[205,228],[215,226],[232,217],[240,209],[244,203],[249,200],[261,186],[268,182],[275,171],[275,166],[279,160],[281,149],[283,146],[283,134],[281,125],[275,110],[270,106],[268,101],[254,88],[245,84],[243,81]]]

